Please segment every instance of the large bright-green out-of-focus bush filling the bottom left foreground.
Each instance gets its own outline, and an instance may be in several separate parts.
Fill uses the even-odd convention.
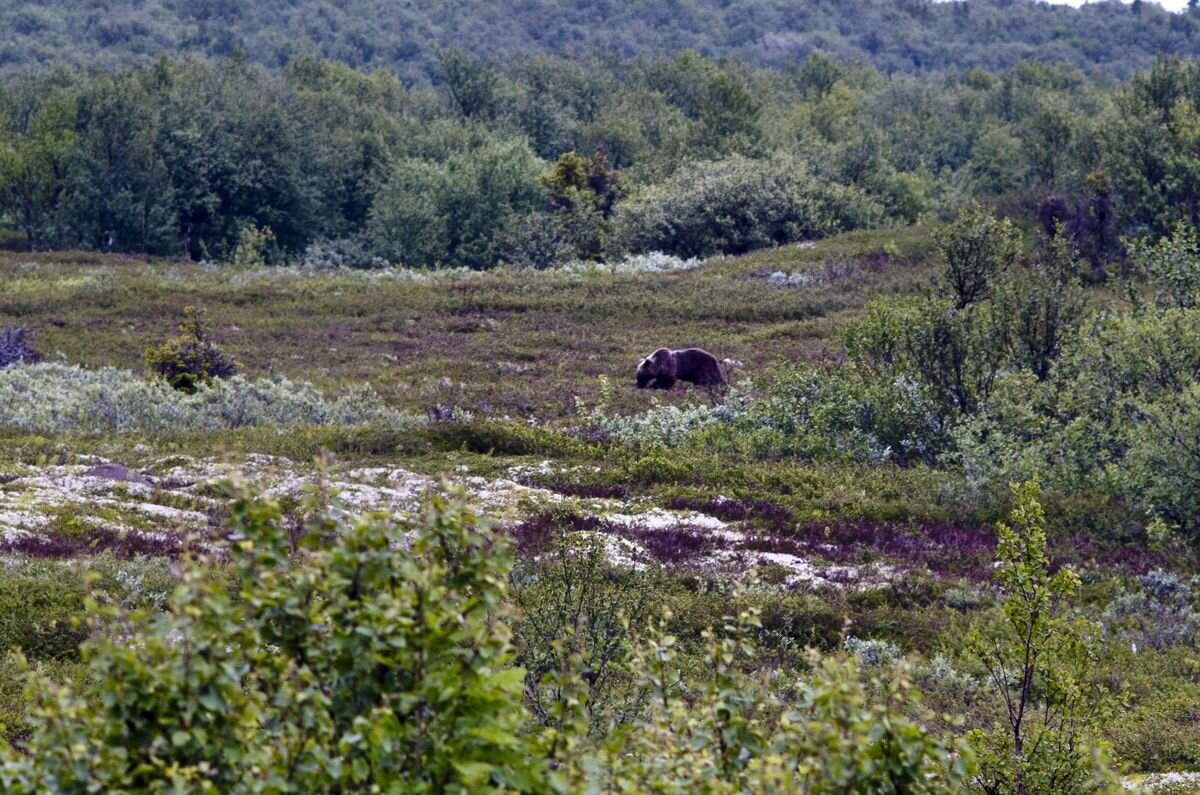
[[[42,682],[5,791],[528,787],[508,557],[473,515],[437,498],[412,537],[359,521],[308,558],[277,508],[234,518],[240,581],[185,572],[137,642],[89,641],[80,694]]]

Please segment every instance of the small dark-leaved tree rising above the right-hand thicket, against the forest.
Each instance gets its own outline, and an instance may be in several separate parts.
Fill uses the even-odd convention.
[[[1021,235],[1013,222],[997,220],[978,204],[935,232],[934,243],[946,257],[946,280],[958,309],[986,298],[992,276],[1021,256]]]

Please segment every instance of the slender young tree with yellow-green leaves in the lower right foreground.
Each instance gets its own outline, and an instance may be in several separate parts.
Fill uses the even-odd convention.
[[[1039,495],[1037,479],[1013,484],[1010,524],[996,527],[1003,622],[974,632],[971,645],[1003,718],[970,735],[979,754],[972,785],[986,795],[1114,791],[1097,755],[1109,715],[1108,693],[1090,681],[1097,627],[1061,615],[1079,575],[1050,573]]]

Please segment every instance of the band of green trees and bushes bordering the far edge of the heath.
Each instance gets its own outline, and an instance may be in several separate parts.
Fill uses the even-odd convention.
[[[438,58],[437,88],[313,58],[10,79],[8,245],[546,267],[740,253],[986,199],[1067,225],[1099,275],[1121,235],[1200,213],[1193,61],[1109,84],[1034,62],[889,77],[826,55]]]

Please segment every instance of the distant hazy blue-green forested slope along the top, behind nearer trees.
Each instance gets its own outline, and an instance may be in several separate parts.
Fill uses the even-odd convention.
[[[782,66],[823,52],[886,72],[1062,61],[1128,77],[1158,54],[1196,53],[1198,20],[1152,2],[1081,8],[1032,0],[38,0],[0,8],[0,70],[126,66],[158,52],[238,50],[271,67],[320,55],[436,80],[436,49],[628,58],[695,49]]]

